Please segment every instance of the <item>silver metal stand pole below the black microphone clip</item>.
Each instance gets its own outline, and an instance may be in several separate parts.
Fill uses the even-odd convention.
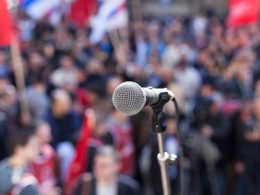
[[[163,133],[157,133],[157,138],[159,147],[159,154],[157,156],[157,159],[161,169],[163,192],[164,195],[172,195],[168,169],[170,156],[167,152],[165,152],[164,149]]]

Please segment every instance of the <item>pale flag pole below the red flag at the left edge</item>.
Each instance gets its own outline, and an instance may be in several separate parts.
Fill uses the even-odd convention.
[[[31,119],[31,116],[25,87],[23,62],[19,50],[18,41],[15,38],[11,44],[11,56],[13,61],[17,90],[19,92],[19,95],[21,95],[24,92],[23,97],[20,99],[21,120],[24,124],[28,124]]]

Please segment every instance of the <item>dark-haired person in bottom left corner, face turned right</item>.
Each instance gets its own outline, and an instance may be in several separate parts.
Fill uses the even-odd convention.
[[[10,157],[0,164],[0,193],[38,195],[38,181],[29,164],[39,155],[40,145],[33,127],[19,128],[9,136]]]

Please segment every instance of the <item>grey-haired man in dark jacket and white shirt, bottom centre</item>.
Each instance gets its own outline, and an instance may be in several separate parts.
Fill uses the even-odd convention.
[[[120,155],[109,146],[100,148],[94,158],[93,175],[85,173],[75,195],[141,195],[139,184],[129,176],[120,175]]]

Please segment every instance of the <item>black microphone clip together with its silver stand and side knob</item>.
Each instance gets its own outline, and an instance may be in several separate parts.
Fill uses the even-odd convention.
[[[169,165],[176,164],[177,156],[169,155],[165,151],[163,132],[166,130],[166,118],[163,112],[164,105],[169,102],[170,96],[168,92],[162,92],[160,94],[160,101],[156,105],[151,106],[152,115],[152,127],[153,131],[157,133],[159,154],[157,155],[158,163],[161,170],[161,179],[164,195],[172,195],[170,177],[169,177]]]

